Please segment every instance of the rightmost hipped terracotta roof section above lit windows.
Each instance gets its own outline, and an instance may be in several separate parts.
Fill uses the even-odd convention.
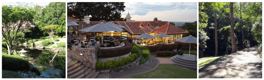
[[[156,28],[153,30],[156,33],[164,33],[164,34],[188,34],[187,31],[184,31],[176,26],[171,24],[166,24],[162,27]]]

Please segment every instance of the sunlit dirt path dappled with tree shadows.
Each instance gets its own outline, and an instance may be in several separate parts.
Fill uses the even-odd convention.
[[[262,78],[262,58],[258,46],[219,58],[199,67],[199,78]]]

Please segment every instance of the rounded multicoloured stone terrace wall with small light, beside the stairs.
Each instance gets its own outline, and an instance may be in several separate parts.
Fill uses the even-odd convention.
[[[96,69],[96,62],[97,62],[97,51],[99,50],[99,46],[95,46],[94,48],[79,48],[72,46],[72,57],[85,66],[92,68],[93,70]],[[80,55],[82,54],[82,55]]]

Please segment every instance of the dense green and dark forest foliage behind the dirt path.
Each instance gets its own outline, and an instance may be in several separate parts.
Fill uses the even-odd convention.
[[[221,7],[223,6],[223,7]],[[215,11],[216,34],[215,39]],[[199,2],[199,54],[218,55],[230,54],[231,14],[230,3]],[[234,36],[237,50],[243,49],[243,41],[250,41],[251,46],[262,45],[262,2],[234,2]],[[217,40],[217,44],[215,44]]]

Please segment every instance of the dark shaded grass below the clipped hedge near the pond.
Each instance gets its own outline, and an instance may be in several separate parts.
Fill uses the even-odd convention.
[[[2,78],[24,78],[14,71],[2,70]]]

